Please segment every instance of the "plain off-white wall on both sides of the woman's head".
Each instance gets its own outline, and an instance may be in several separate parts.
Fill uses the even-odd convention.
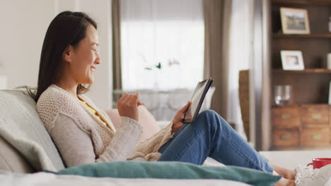
[[[1,0],[0,76],[7,88],[37,86],[40,52],[48,25],[61,11],[84,11],[97,23],[102,63],[88,96],[102,109],[112,106],[111,1]]]

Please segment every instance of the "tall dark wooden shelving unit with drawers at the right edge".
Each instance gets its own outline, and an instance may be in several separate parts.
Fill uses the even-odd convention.
[[[327,54],[331,53],[331,0],[272,0],[269,5],[272,147],[331,146],[331,106],[327,104],[331,70],[326,69]],[[310,34],[284,35],[281,7],[306,9]],[[282,70],[281,50],[301,51],[305,70]],[[275,85],[292,86],[288,106],[274,102]]]

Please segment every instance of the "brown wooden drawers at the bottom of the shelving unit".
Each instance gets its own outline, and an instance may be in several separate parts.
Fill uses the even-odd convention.
[[[281,106],[272,109],[274,147],[330,145],[331,107],[325,104]]]

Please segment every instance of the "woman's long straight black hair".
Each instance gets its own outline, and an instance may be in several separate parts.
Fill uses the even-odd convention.
[[[69,45],[76,47],[81,42],[89,24],[97,29],[95,21],[81,12],[64,11],[52,20],[42,44],[36,102],[47,87],[59,80],[64,50]],[[88,88],[80,84],[77,87],[77,94],[87,92]]]

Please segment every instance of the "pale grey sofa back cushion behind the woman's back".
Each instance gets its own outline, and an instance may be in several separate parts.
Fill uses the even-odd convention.
[[[20,151],[35,171],[64,168],[37,114],[35,101],[23,91],[0,91],[0,123],[0,136]]]

